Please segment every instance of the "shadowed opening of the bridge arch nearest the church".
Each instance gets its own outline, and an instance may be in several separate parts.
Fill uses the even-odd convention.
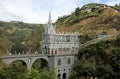
[[[49,69],[49,63],[44,58],[38,58],[32,63],[32,69],[42,70]]]

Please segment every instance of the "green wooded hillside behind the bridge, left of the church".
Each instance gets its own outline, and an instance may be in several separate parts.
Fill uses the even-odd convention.
[[[42,24],[0,21],[0,54],[40,51]]]

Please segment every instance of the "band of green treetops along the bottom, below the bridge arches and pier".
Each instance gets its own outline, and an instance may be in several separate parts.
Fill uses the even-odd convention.
[[[0,79],[57,79],[54,70],[41,71],[33,69],[31,73],[22,64],[13,64],[0,69]]]

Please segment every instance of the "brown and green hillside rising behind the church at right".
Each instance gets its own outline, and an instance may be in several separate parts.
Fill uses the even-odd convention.
[[[57,31],[79,32],[84,35],[120,32],[120,6],[87,4],[76,8],[71,15],[59,17]]]

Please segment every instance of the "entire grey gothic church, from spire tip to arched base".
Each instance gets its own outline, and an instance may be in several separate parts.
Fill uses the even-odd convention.
[[[51,57],[51,68],[55,68],[60,79],[68,79],[73,65],[77,62],[80,48],[78,33],[57,33],[49,14],[48,24],[44,27],[42,53]]]

